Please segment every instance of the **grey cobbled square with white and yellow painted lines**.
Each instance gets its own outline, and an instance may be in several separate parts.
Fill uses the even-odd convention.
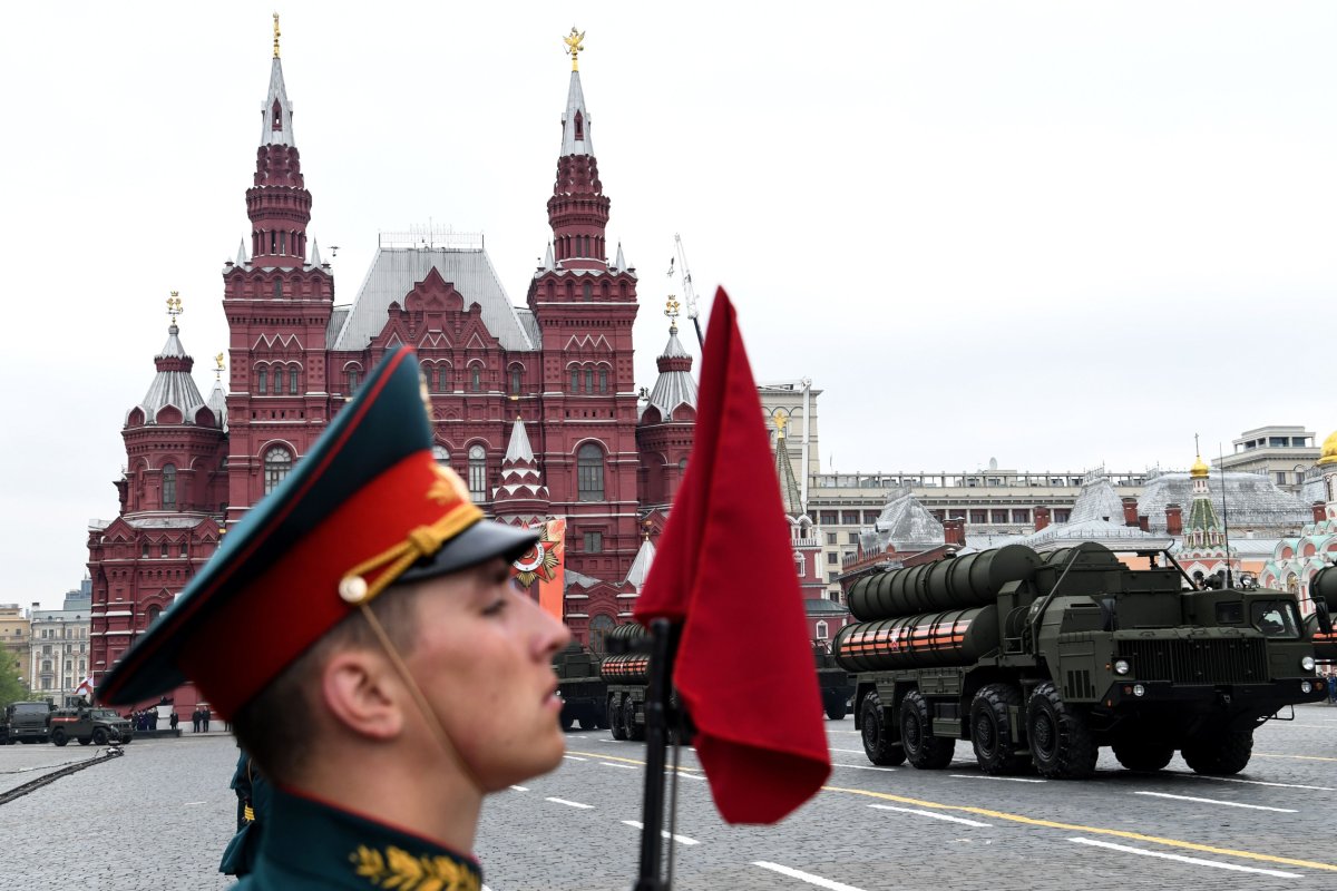
[[[873,768],[853,723],[828,721],[828,788],[778,827],[727,827],[683,753],[674,887],[749,891],[1337,888],[1337,708],[1258,732],[1249,769],[1158,775],[1108,755],[1084,783],[985,779],[959,744],[947,771]],[[95,747],[0,747],[0,792]],[[644,747],[568,735],[555,773],[493,796],[479,856],[492,891],[624,890],[636,863]],[[0,806],[0,890],[226,888],[237,749],[210,735],[140,740]],[[21,868],[15,870],[15,863]],[[71,884],[75,882],[75,884]]]

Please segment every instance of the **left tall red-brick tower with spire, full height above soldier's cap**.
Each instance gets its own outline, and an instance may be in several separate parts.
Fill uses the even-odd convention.
[[[255,176],[246,190],[246,239],[223,267],[231,353],[227,398],[227,520],[238,520],[306,453],[329,422],[326,327],[334,278],[320,248],[306,250],[312,194],[293,138],[274,16],[274,59],[261,106]]]

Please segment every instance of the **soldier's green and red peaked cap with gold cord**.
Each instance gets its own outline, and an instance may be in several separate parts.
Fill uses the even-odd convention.
[[[190,679],[231,716],[393,582],[529,549],[535,533],[484,520],[436,462],[425,403],[413,353],[388,354],[103,677],[99,700],[128,705]]]

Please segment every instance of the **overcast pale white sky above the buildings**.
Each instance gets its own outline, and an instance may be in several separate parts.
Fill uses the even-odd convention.
[[[273,9],[5,11],[0,601],[57,605],[84,574],[171,290],[213,386]],[[337,302],[378,231],[431,222],[485,232],[523,303],[576,24],[610,243],[640,274],[638,385],[681,232],[758,379],[824,391],[824,470],[1185,468],[1195,431],[1214,454],[1337,427],[1332,3],[279,12]]]

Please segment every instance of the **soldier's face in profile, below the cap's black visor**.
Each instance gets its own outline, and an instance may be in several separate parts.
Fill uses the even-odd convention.
[[[571,632],[511,585],[503,560],[422,582],[409,672],[485,791],[551,771],[566,749],[552,655]]]

